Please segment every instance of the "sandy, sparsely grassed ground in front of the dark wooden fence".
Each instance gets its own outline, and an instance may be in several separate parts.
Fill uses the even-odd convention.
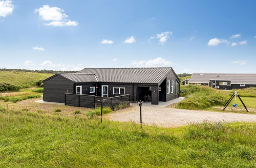
[[[91,108],[84,108],[84,107],[36,103],[35,102],[36,100],[42,100],[42,97],[27,99],[17,103],[0,101],[0,106],[6,107],[8,109],[17,109],[17,110],[25,109],[33,112],[39,111],[39,113],[43,113],[43,114],[59,114],[60,116],[74,116],[75,110],[81,111],[81,114],[85,114],[87,113],[88,110],[91,110]],[[61,109],[61,112],[55,112],[54,111],[55,109]]]

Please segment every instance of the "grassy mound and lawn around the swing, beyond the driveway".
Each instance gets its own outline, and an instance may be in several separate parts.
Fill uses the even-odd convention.
[[[256,114],[256,88],[246,88],[236,90],[244,101],[245,105],[250,108],[250,114]],[[222,111],[223,105],[227,102],[233,91],[223,91],[209,88],[207,86],[181,86],[180,95],[185,99],[177,104],[177,108],[183,109],[205,109]],[[225,111],[233,113],[248,113],[239,98],[237,97],[237,107],[232,107],[234,99],[230,102]]]

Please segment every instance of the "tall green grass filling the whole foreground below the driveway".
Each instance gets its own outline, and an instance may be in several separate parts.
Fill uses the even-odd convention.
[[[254,167],[256,124],[144,126],[0,109],[0,167]]]

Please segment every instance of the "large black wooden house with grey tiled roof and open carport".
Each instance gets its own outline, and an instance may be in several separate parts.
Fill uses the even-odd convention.
[[[113,97],[129,94],[130,101],[152,104],[180,96],[180,80],[166,68],[85,68],[77,73],[57,73],[44,80],[44,101],[65,102],[65,93]]]

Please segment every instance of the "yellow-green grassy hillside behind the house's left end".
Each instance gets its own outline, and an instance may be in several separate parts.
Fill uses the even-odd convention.
[[[53,74],[36,72],[0,71],[0,83],[7,82],[20,88],[31,88],[38,80],[46,79]]]

